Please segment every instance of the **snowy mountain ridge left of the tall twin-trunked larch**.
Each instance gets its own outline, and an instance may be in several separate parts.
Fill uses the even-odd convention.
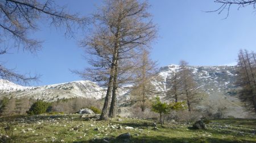
[[[100,99],[105,95],[104,88],[92,81],[73,81],[36,87],[25,87],[6,81],[1,87],[3,88],[0,89],[0,96],[28,97],[45,101],[56,101],[64,98]]]

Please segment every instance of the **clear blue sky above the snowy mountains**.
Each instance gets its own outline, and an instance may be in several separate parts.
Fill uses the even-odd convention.
[[[256,13],[252,7],[235,7],[218,15],[220,5],[213,0],[166,0],[148,1],[154,22],[159,27],[159,38],[152,45],[151,58],[158,60],[159,67],[178,64],[181,59],[195,66],[216,66],[236,62],[239,49],[256,51]],[[100,6],[102,1],[56,1],[67,5],[69,12],[88,15]],[[44,21],[42,21],[44,23]],[[43,49],[36,55],[22,50],[11,50],[0,61],[19,73],[42,75],[38,84],[47,85],[82,80],[70,70],[82,70],[88,66],[82,57],[84,51],[77,41],[64,37],[64,29],[56,31],[40,24],[40,31],[30,36],[44,40]],[[81,36],[82,38],[82,36]]]

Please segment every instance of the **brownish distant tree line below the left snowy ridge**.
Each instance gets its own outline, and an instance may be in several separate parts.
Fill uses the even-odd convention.
[[[3,97],[0,99],[0,116],[37,115],[44,112],[73,114],[81,108],[89,108],[99,113],[98,109],[101,109],[101,102],[91,98],[59,99],[54,102],[29,98]]]

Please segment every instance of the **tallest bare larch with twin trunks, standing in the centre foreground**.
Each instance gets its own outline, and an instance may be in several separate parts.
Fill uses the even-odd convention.
[[[123,64],[129,64],[156,37],[156,26],[147,12],[147,2],[108,0],[104,4],[94,14],[93,32],[81,42],[97,60],[97,64],[92,66],[104,71],[102,74],[105,76],[97,77],[108,79],[101,120],[115,116],[119,75],[125,71],[121,67],[127,67]]]

